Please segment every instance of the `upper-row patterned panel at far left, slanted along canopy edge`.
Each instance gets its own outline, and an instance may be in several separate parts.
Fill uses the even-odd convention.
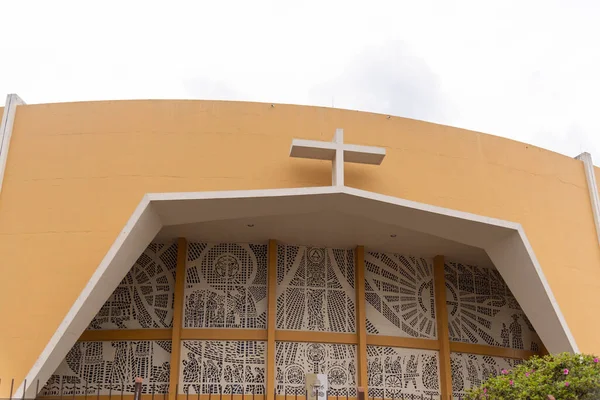
[[[177,243],[151,243],[90,323],[90,330],[170,328]]]

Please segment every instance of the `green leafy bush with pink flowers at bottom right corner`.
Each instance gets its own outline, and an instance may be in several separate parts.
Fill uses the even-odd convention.
[[[591,355],[563,353],[532,357],[510,371],[488,379],[465,399],[557,400],[600,399],[600,362]]]

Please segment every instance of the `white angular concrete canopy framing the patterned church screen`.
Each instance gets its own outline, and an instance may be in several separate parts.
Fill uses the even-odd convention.
[[[385,224],[415,232],[437,243],[456,243],[464,251],[483,249],[552,352],[578,352],[577,345],[544,277],[520,224],[384,196],[344,186],[161,193],[144,196],[121,234],[94,272],[79,298],[27,374],[28,382],[45,382],[87,328],[147,245],[173,226],[253,218],[319,213],[342,213],[348,218]],[[302,220],[302,219],[300,219]],[[375,225],[373,225],[375,226]],[[378,225],[383,226],[383,225]],[[367,230],[366,235],[373,234]],[[385,232],[385,235],[390,235]],[[277,237],[270,237],[278,239]],[[360,232],[353,240],[360,240]],[[358,242],[356,245],[364,243]],[[443,250],[443,249],[442,249]],[[475,254],[475,253],[473,253]],[[35,396],[27,388],[25,396]],[[19,387],[16,397],[22,396]]]

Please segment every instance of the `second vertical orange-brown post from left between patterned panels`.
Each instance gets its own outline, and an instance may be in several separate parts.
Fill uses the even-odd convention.
[[[277,316],[277,242],[269,240],[267,275],[267,400],[275,399],[275,323]]]

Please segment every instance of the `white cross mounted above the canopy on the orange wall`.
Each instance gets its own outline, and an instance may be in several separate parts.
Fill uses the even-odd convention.
[[[332,186],[344,186],[344,161],[358,164],[379,165],[385,157],[385,149],[372,146],[344,144],[344,130],[336,129],[333,142],[294,139],[290,157],[331,160]]]

